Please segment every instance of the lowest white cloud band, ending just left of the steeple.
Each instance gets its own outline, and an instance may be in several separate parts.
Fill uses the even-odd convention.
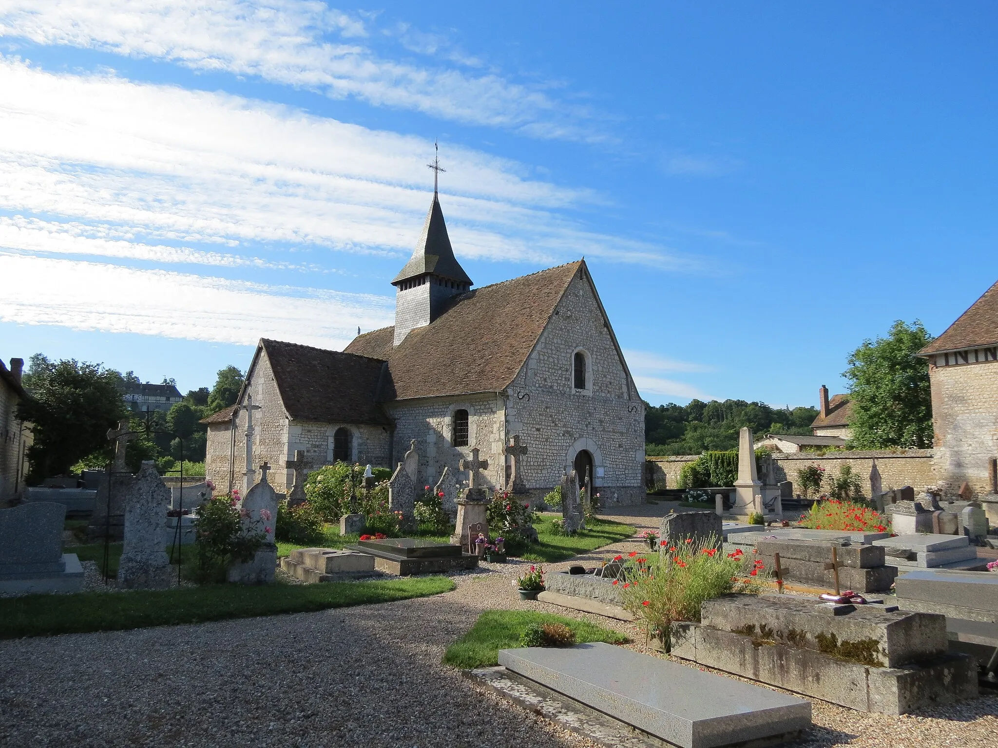
[[[0,321],[251,345],[341,348],[391,324],[392,299],[0,252]]]

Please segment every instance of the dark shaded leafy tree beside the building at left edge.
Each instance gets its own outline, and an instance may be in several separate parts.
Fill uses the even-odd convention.
[[[31,397],[19,404],[18,418],[34,424],[29,481],[66,474],[94,452],[110,456],[108,429],[126,414],[119,372],[72,359],[50,361],[37,353],[24,385]]]

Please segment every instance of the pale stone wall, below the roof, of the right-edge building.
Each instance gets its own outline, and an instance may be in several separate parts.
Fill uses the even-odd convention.
[[[998,362],[932,362],[929,379],[938,488],[952,496],[966,481],[975,494],[989,493],[988,462],[998,457]]]

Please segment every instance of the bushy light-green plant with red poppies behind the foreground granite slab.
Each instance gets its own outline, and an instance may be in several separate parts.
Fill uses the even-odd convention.
[[[718,551],[711,537],[663,546],[657,559],[630,554],[614,584],[621,590],[624,607],[644,619],[668,647],[674,621],[700,621],[704,600],[729,592],[757,592],[765,575],[762,561],[749,563],[741,551]]]

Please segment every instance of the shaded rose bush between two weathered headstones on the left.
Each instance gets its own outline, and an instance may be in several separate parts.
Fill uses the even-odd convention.
[[[249,512],[237,508],[240,492],[208,499],[201,505],[195,543],[198,547],[197,580],[224,581],[226,569],[234,561],[250,561],[266,540],[260,520],[250,520]],[[262,520],[263,518],[261,518]]]

